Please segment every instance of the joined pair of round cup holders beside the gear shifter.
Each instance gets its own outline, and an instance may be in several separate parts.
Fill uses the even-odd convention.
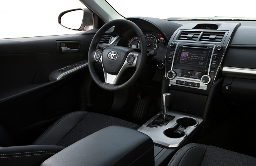
[[[184,117],[177,120],[177,125],[174,128],[168,128],[164,131],[164,135],[169,138],[180,138],[185,135],[184,130],[189,126],[196,125],[197,121],[194,118]]]

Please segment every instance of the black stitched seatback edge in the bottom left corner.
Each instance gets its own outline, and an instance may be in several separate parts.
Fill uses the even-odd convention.
[[[0,147],[1,166],[36,166],[64,149],[56,145]]]

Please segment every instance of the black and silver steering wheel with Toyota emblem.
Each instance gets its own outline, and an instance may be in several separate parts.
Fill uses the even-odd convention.
[[[129,26],[135,31],[140,40],[140,53],[135,52],[132,48],[122,46],[107,47],[104,50],[96,48],[101,36],[106,32],[106,30],[118,24]],[[92,79],[100,88],[104,90],[111,92],[124,90],[132,85],[140,76],[146,63],[146,53],[147,47],[145,36],[142,30],[140,30],[140,28],[134,22],[125,19],[112,20],[104,24],[104,26],[102,26],[98,32],[96,32],[90,44],[88,53],[88,68]],[[105,79],[104,82],[102,82],[96,74],[96,70],[94,68],[94,64],[96,62],[100,62],[102,64]],[[118,80],[124,71],[131,67],[136,68],[136,71],[132,77],[123,84],[118,85]]]

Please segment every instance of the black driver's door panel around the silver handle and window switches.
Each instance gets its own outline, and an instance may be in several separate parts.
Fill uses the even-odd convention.
[[[31,144],[56,118],[81,108],[87,68],[60,80],[49,81],[48,76],[87,60],[95,32],[0,40],[0,124],[18,145]],[[78,52],[61,52],[58,41],[80,43]]]

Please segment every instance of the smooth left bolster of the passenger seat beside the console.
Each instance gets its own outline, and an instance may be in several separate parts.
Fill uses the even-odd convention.
[[[188,144],[176,152],[168,166],[200,166],[207,147],[204,144]]]

